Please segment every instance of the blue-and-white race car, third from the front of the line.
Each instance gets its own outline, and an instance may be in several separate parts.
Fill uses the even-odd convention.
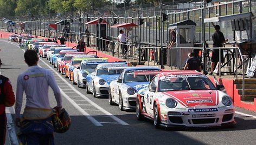
[[[116,69],[108,70],[108,68]],[[126,62],[98,64],[94,72],[86,76],[86,93],[93,97],[108,97],[110,82],[116,80],[121,71],[127,67]]]

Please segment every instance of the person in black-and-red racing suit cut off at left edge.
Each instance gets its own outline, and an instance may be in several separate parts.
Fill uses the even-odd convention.
[[[0,60],[0,67],[2,62]],[[5,143],[5,136],[7,130],[7,117],[5,115],[5,107],[14,105],[15,97],[14,91],[9,78],[0,75],[0,144]]]

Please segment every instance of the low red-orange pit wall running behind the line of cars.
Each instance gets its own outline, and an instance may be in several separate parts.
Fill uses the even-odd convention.
[[[1,38],[8,38],[9,35],[11,35],[11,34],[14,34],[14,33],[0,32],[0,37]],[[25,34],[23,34],[23,35],[25,35]],[[40,37],[40,36],[38,36],[38,37],[39,38],[46,38],[46,37]],[[57,41],[60,43],[59,40],[57,40]],[[75,47],[77,44],[66,42],[66,45],[68,47]],[[86,52],[88,52],[88,51],[94,51],[94,49],[86,47]],[[98,51],[97,55],[99,57],[108,58],[109,62],[121,61],[119,58],[112,57],[110,55],[106,55],[106,54],[104,54],[103,52],[100,52],[100,51]],[[209,78],[214,83],[214,78],[212,76],[210,76]],[[240,97],[240,95],[238,95],[238,89],[236,89],[236,84],[234,84],[233,79],[217,78],[217,80],[220,82],[220,84],[223,84],[225,86],[227,94],[232,97],[234,106],[245,108],[245,109],[252,110],[252,111],[256,111],[256,98],[254,98],[253,103],[246,103],[244,101],[241,101],[241,97]]]

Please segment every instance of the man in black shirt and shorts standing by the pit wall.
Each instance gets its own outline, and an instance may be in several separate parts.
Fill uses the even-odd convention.
[[[213,38],[213,47],[223,47],[223,43],[226,43],[228,41],[228,39],[225,40],[225,37],[223,35],[223,33],[220,31],[220,25],[215,25],[215,32],[212,36]],[[224,57],[223,57],[223,49],[221,49],[220,51],[221,54],[221,63],[224,62]],[[220,65],[219,63],[219,49],[213,49],[213,55],[212,55],[212,64],[211,64],[211,68],[210,68],[210,74],[209,75],[213,75],[213,70],[215,68],[215,63],[216,67],[218,67]],[[219,70],[220,72],[220,70]]]

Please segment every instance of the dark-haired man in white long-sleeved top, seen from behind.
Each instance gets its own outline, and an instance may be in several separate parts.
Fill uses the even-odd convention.
[[[53,73],[37,65],[39,57],[36,51],[27,50],[24,54],[28,69],[18,75],[16,92],[16,126],[21,127],[18,135],[23,144],[54,144],[52,108],[49,103],[49,86],[53,89],[57,110],[62,108],[60,89]],[[21,119],[23,92],[26,103]]]

